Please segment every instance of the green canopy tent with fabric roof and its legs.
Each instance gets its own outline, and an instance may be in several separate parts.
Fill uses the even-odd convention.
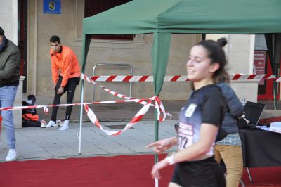
[[[82,72],[92,34],[153,34],[155,95],[164,82],[171,34],[281,33],[280,0],[133,0],[83,20]],[[81,82],[81,102],[84,100]],[[81,138],[81,116],[80,131]],[[156,117],[156,115],[155,115]],[[157,118],[155,118],[157,119]],[[155,141],[158,138],[155,120]],[[81,141],[79,143],[80,153]]]

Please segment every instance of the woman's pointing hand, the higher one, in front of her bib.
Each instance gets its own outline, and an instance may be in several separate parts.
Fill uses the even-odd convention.
[[[171,146],[176,145],[176,137],[173,138],[166,138],[160,141],[155,141],[154,143],[150,143],[146,148],[153,148],[155,153],[162,153],[165,150],[171,148]]]

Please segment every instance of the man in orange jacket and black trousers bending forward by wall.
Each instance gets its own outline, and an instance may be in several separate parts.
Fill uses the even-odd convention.
[[[60,104],[60,97],[67,91],[67,104],[72,103],[76,86],[80,81],[80,67],[77,60],[77,56],[67,46],[60,44],[60,38],[58,36],[52,36],[50,38],[50,56],[51,56],[51,70],[53,78],[53,91],[55,91],[55,97],[53,99],[53,105]],[[60,70],[60,74],[59,74]],[[58,107],[53,107],[51,120],[46,127],[52,127],[55,125],[57,117]],[[67,106],[65,112],[65,122],[63,127],[59,130],[68,129],[70,122],[70,115],[72,112],[72,106]]]

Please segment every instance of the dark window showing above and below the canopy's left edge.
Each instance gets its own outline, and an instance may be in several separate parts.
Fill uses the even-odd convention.
[[[103,11],[107,11],[110,8],[126,4],[131,0],[85,0],[85,15],[84,17],[90,17]],[[112,35],[112,34],[95,34],[92,39],[118,39],[118,40],[133,40],[134,35]]]

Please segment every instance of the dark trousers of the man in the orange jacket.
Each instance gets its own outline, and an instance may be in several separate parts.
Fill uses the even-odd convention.
[[[58,89],[60,88],[60,84],[63,80],[63,77],[58,77],[58,83],[57,86],[55,86],[55,97],[53,98],[53,105],[60,104],[60,97],[63,96],[63,94],[67,91],[67,104],[71,104],[73,101],[74,93],[76,86],[79,84],[79,77],[73,77],[68,79],[67,84],[65,85],[63,94],[58,94]],[[53,107],[51,120],[56,121],[57,120],[57,112],[58,112],[58,106]],[[72,106],[67,106],[66,112],[65,112],[65,120],[70,120],[70,115],[72,112]]]

